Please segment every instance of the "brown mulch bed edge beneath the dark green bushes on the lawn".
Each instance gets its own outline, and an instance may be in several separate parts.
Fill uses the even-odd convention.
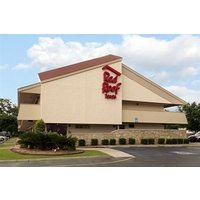
[[[22,155],[44,155],[44,156],[60,156],[60,155],[73,155],[83,153],[84,150],[67,151],[67,150],[57,150],[56,152],[52,150],[39,150],[39,149],[26,149],[20,148],[18,146],[11,149],[15,153]]]

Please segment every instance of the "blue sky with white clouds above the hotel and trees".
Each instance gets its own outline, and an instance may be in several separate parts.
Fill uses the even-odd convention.
[[[41,71],[106,54],[187,102],[199,102],[200,35],[0,34],[0,97],[17,103],[17,89]]]

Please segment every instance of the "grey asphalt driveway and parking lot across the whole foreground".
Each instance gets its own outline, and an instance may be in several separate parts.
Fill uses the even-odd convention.
[[[200,146],[112,147],[130,157],[88,157],[0,162],[0,167],[200,167]]]

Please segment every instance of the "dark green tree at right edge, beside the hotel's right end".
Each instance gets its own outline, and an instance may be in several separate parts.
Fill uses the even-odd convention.
[[[186,105],[179,107],[181,112],[184,112],[188,125],[187,129],[191,131],[199,131],[200,130],[200,103],[187,103]]]

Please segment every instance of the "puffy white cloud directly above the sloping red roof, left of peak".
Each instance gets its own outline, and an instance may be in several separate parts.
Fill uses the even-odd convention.
[[[38,44],[33,45],[27,51],[30,63],[20,63],[13,69],[38,67],[44,71],[110,54],[111,52],[115,52],[115,47],[111,43],[91,42],[81,44],[74,41],[65,43],[61,38],[40,37]]]

